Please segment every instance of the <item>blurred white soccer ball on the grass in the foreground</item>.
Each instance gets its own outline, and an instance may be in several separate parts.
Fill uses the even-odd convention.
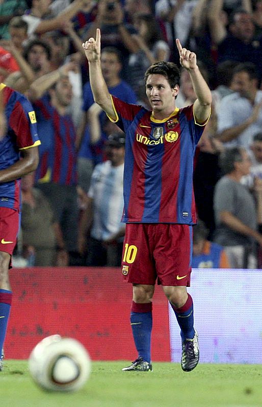
[[[49,391],[75,391],[86,383],[91,361],[82,343],[60,335],[47,336],[29,357],[35,383]]]

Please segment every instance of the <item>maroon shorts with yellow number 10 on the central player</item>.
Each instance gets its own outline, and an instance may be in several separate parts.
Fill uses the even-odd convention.
[[[134,284],[190,286],[192,226],[127,223],[122,256],[124,279]]]

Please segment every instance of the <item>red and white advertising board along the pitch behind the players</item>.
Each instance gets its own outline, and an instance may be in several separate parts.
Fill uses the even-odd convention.
[[[132,285],[118,268],[25,268],[10,272],[13,303],[7,359],[28,358],[42,338],[80,340],[93,360],[133,360]],[[192,272],[201,361],[262,363],[261,270]],[[179,362],[179,328],[160,286],[153,300],[152,360]]]

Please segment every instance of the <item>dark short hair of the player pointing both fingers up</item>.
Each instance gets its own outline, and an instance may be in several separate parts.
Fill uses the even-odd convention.
[[[180,84],[180,71],[176,64],[173,62],[160,61],[151,65],[145,73],[145,82],[149,75],[159,74],[165,76],[171,88]]]

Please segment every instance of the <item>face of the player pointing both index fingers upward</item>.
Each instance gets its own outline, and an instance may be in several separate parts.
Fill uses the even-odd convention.
[[[178,85],[171,88],[165,76],[149,75],[146,81],[146,96],[153,112],[163,115],[163,119],[168,117],[175,108],[175,96],[178,90]]]

